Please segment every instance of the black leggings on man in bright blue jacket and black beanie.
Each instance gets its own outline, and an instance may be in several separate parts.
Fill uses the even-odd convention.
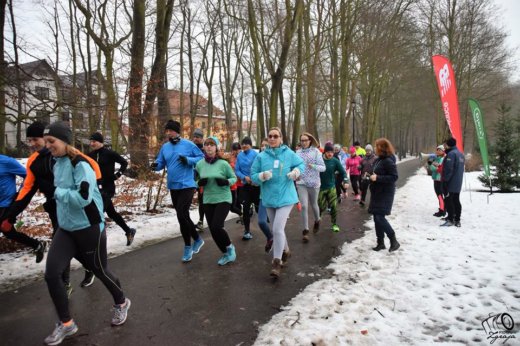
[[[195,224],[190,218],[190,205],[193,201],[193,195],[195,194],[194,188],[170,190],[170,196],[172,197],[173,207],[177,212],[177,220],[181,227],[182,239],[184,239],[184,245],[191,245],[191,238],[193,240],[199,239],[199,233]]]

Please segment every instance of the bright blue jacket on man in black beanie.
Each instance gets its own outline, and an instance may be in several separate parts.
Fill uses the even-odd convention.
[[[179,156],[188,159],[188,164],[179,161]],[[180,190],[196,188],[194,169],[197,162],[204,157],[202,151],[193,142],[182,138],[177,144],[166,142],[157,155],[157,168],[168,170],[168,189]]]

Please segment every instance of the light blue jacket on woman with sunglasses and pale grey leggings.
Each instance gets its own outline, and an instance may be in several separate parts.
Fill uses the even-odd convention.
[[[258,154],[251,167],[251,179],[260,185],[262,204],[266,208],[280,208],[298,203],[294,181],[287,177],[287,173],[294,168],[303,173],[305,162],[286,145],[268,148]],[[272,171],[273,177],[262,182],[259,174],[269,170]]]

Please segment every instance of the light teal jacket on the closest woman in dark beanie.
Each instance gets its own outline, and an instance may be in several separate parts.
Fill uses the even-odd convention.
[[[99,192],[96,174],[86,159],[76,156],[56,158],[54,172],[54,198],[58,224],[65,231],[78,231],[100,224],[104,229],[103,199]],[[87,189],[80,191],[82,183]]]

